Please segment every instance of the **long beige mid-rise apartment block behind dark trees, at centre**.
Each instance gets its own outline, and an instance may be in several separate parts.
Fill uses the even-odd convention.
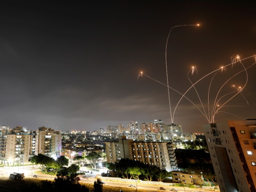
[[[156,165],[168,172],[178,170],[172,142],[134,142],[119,136],[118,142],[105,142],[107,162],[115,163],[121,158]]]

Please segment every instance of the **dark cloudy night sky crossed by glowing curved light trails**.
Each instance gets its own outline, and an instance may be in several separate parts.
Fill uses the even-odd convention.
[[[256,54],[255,5],[256,1],[1,2],[0,124],[92,131],[161,119],[180,124],[183,132],[203,132],[208,121],[200,112],[199,98],[208,113],[211,81],[210,111],[219,90],[216,100],[222,98],[221,105],[234,95],[233,84],[244,86],[246,72],[234,76],[243,70],[237,62],[213,79],[215,73],[203,78],[195,85],[199,98],[193,87],[185,95],[195,105],[183,98],[173,114],[181,95],[169,89],[170,112],[165,51],[169,86],[180,93],[191,87],[189,79],[195,83],[230,64],[237,54],[245,67],[251,66]],[[184,26],[198,23],[199,27]],[[197,69],[193,75],[192,66]],[[247,69],[242,94],[221,108],[215,122],[256,118],[255,71],[256,65]]]

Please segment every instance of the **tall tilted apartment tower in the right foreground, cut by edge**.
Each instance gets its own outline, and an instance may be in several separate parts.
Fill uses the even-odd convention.
[[[220,192],[255,192],[256,119],[205,124]]]

